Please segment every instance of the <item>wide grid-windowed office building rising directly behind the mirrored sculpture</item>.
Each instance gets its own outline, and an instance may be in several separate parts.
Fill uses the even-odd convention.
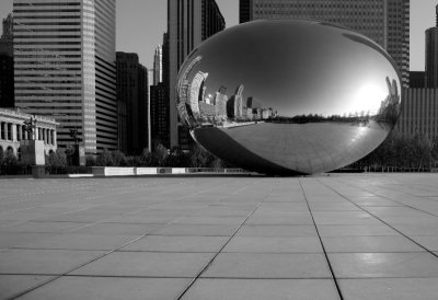
[[[382,46],[408,85],[410,0],[240,0],[240,22],[306,18],[355,30]]]

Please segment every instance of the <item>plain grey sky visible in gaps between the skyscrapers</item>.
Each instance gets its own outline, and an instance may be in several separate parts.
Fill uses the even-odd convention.
[[[239,0],[216,0],[227,27],[239,23]],[[0,18],[12,11],[13,0],[0,0]],[[147,68],[166,31],[166,0],[117,0],[116,49],[137,53]],[[411,70],[424,70],[425,30],[435,26],[438,0],[411,0]]]

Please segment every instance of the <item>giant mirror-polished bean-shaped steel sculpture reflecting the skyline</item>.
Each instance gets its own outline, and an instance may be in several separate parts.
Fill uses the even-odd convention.
[[[377,148],[401,107],[401,76],[371,39],[309,20],[226,30],[186,59],[181,120],[205,149],[267,174],[345,166]]]

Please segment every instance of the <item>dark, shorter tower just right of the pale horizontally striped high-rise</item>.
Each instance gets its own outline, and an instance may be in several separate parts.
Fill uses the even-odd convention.
[[[117,51],[118,149],[141,154],[148,146],[148,69],[137,54]]]

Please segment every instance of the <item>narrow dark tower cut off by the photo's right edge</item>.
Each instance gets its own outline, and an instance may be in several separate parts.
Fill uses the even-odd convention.
[[[435,8],[437,23],[426,31],[426,88],[438,88],[438,5]]]

